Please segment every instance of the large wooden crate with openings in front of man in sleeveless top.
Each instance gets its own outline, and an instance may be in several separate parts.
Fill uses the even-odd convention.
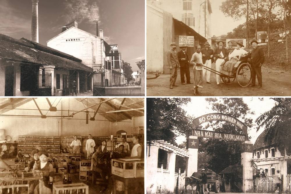
[[[124,178],[144,177],[144,161],[141,159],[112,159],[111,172]]]

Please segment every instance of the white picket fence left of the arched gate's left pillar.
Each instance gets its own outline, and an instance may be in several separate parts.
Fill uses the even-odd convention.
[[[181,193],[183,188],[185,188],[185,178],[186,171],[181,173],[181,169],[179,172],[175,172],[175,176],[171,176],[169,170],[164,169],[163,165],[161,168],[157,168],[157,187],[156,187],[156,194],[165,194],[168,193],[169,182],[175,179],[174,192]]]

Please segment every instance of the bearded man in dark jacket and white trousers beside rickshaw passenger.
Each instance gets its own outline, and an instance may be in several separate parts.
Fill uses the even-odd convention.
[[[217,42],[218,47],[214,49],[213,56],[215,57],[215,69],[218,72],[221,72],[221,64],[227,60],[228,58],[228,51],[225,47],[223,47],[224,42],[219,40]],[[221,78],[218,74],[216,74],[216,83],[219,85]]]

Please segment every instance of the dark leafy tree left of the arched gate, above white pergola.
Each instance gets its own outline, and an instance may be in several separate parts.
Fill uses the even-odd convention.
[[[147,98],[147,140],[177,145],[177,135],[191,132],[192,120],[181,107],[190,101],[190,98]]]

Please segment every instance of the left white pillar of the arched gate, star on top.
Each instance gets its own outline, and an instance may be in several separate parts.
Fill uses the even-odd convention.
[[[190,148],[189,145],[192,145],[191,142],[193,142],[194,146],[196,146],[197,148]],[[189,154],[189,158],[187,161],[187,169],[186,169],[187,177],[190,177],[193,174],[193,172],[197,172],[198,145],[195,145],[196,143],[198,144],[198,137],[197,136],[189,136],[188,149],[187,149],[187,153]]]

